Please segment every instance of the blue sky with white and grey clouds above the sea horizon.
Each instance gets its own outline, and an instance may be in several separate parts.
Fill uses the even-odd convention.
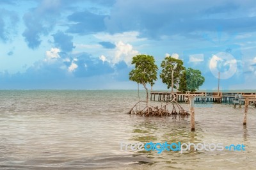
[[[0,1],[0,89],[136,89],[138,54],[156,60],[153,89],[166,89],[166,56],[200,70],[200,89],[217,89],[218,72],[220,89],[256,89],[256,3]]]

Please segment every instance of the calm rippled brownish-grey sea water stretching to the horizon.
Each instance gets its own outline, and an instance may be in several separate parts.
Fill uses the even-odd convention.
[[[145,98],[145,91],[140,91]],[[190,117],[127,114],[136,90],[0,91],[0,169],[255,169],[256,109],[195,108]],[[160,102],[150,102],[159,105]],[[182,104],[189,111],[188,104]],[[243,144],[245,150],[125,150],[124,143]],[[122,149],[122,150],[121,150]]]

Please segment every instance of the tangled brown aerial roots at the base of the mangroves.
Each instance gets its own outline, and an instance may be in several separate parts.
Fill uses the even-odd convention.
[[[168,96],[166,97],[168,98]],[[189,116],[189,112],[185,111],[179,103],[175,101],[175,98],[171,102],[166,102],[163,105],[163,101],[161,107],[154,107],[154,106],[146,106],[144,109],[138,109],[138,105],[141,103],[146,103],[145,101],[140,101],[135,104],[132,109],[128,112],[128,114],[138,114],[140,116],[172,116],[172,115],[179,115],[179,116]],[[168,111],[166,107],[168,105],[172,105],[172,112]]]

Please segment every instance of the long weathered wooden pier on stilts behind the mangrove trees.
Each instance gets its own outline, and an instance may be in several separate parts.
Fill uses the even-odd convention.
[[[166,96],[167,100],[172,100],[171,92],[167,91],[151,91],[150,100],[151,101],[164,101]],[[174,92],[177,102],[189,102],[190,97],[195,97],[195,102],[216,102],[216,103],[230,103],[244,104],[245,98],[248,98],[249,104],[254,103],[256,107],[256,92],[246,93],[246,92]]]

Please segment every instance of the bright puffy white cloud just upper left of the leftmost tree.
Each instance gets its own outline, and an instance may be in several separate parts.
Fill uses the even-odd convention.
[[[131,65],[132,57],[140,54],[137,50],[134,50],[129,43],[118,42],[116,43],[115,54],[111,59],[113,64],[125,61],[127,65]]]

